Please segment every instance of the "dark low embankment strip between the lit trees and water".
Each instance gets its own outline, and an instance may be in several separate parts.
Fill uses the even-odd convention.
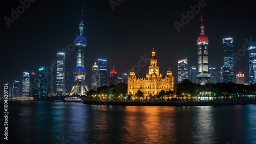
[[[205,105],[236,105],[256,104],[256,100],[226,101],[84,101],[90,105],[134,105],[134,106],[205,106]]]

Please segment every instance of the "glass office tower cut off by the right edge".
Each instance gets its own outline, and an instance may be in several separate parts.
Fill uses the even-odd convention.
[[[256,46],[249,46],[249,83],[256,83]]]

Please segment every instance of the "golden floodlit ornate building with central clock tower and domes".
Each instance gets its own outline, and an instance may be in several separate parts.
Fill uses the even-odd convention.
[[[141,91],[144,96],[154,96],[163,91],[174,91],[174,76],[170,69],[166,72],[165,78],[162,79],[162,74],[159,72],[157,66],[156,52],[153,47],[150,66],[148,67],[148,73],[145,78],[137,78],[135,72],[130,72],[128,76],[128,90],[127,94],[135,95],[138,91]]]

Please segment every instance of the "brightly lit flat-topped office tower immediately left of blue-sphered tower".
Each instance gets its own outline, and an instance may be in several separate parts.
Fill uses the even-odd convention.
[[[66,95],[65,86],[65,53],[57,53],[57,70],[56,70],[56,95]]]

